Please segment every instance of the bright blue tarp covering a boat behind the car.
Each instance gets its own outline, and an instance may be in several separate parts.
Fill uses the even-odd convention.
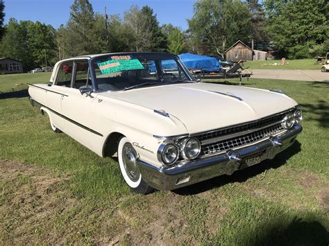
[[[202,71],[219,71],[221,64],[216,58],[210,58],[205,55],[195,55],[192,53],[183,53],[178,55],[180,60],[188,69],[201,69]]]

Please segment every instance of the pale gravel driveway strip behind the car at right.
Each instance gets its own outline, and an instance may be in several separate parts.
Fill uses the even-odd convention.
[[[329,82],[329,73],[322,73],[320,70],[253,69],[251,78]]]

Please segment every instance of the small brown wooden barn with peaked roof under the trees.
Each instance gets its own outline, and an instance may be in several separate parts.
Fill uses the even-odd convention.
[[[233,46],[230,46],[230,48],[228,48],[225,53],[226,60],[228,61],[238,62],[239,60],[253,60],[253,50],[240,40],[233,44]]]

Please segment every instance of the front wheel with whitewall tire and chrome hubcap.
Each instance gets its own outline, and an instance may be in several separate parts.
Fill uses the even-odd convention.
[[[146,184],[137,164],[137,152],[126,137],[119,140],[118,159],[124,181],[136,193],[148,194],[153,188]]]

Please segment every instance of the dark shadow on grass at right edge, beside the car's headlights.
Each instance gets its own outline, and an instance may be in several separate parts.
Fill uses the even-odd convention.
[[[299,105],[304,112],[312,112],[315,117],[307,118],[307,121],[317,121],[323,128],[329,128],[329,106],[325,100],[318,100],[317,104],[301,103]]]

